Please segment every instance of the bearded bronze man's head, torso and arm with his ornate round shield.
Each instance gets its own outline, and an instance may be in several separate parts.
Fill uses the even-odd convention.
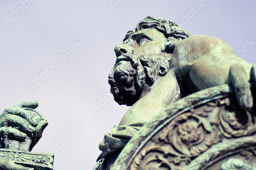
[[[105,134],[94,169],[255,168],[255,65],[154,16],[114,50],[111,92],[132,107]]]

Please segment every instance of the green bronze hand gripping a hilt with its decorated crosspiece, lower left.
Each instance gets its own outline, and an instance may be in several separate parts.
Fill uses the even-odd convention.
[[[37,101],[23,101],[6,108],[1,114],[0,169],[53,169],[53,153],[29,152],[48,125],[47,120],[35,110],[37,106]]]

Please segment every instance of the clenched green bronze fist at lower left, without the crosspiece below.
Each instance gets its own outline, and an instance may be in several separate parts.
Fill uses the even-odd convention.
[[[6,108],[0,115],[1,139],[25,141],[25,148],[27,148],[25,150],[31,151],[40,139],[42,131],[48,125],[41,114],[34,110],[37,106],[37,101],[23,101],[13,107]],[[4,147],[5,144],[2,143],[1,148]],[[19,148],[12,149],[19,150]]]

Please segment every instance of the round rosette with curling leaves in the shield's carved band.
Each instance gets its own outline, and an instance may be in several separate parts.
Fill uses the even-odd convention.
[[[197,156],[217,142],[216,125],[210,125],[206,117],[193,113],[183,113],[168,125],[167,139],[181,154]],[[161,134],[163,136],[163,134]],[[218,140],[220,141],[220,140]]]

